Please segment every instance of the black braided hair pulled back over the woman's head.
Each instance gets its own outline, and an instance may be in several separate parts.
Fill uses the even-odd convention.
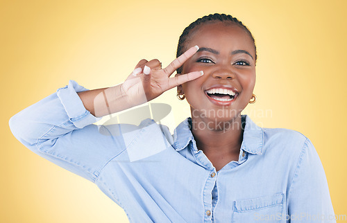
[[[231,21],[234,24],[237,24],[241,28],[244,28],[248,35],[253,40],[254,49],[255,49],[255,62],[257,61],[257,48],[255,47],[255,40],[253,38],[253,35],[250,30],[244,24],[242,24],[242,21],[239,21],[237,18],[232,17],[231,15],[226,14],[219,14],[214,13],[210,15],[205,15],[202,18],[196,19],[196,21],[192,22],[189,26],[183,30],[182,35],[180,35],[180,40],[178,41],[178,47],[177,47],[177,53],[176,57],[179,57],[185,52],[185,42],[187,42],[187,39],[189,38],[189,34],[192,34],[195,30],[198,29],[199,26],[202,26],[203,24],[211,23],[213,21]],[[177,73],[182,73],[182,66],[177,69]]]

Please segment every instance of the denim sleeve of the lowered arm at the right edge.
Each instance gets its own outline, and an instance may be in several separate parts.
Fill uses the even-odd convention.
[[[319,155],[306,139],[287,197],[289,222],[336,222]]]

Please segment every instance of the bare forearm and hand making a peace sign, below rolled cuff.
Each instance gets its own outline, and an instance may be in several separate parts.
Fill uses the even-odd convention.
[[[150,62],[141,60],[124,83],[115,87],[79,92],[78,96],[85,108],[96,117],[102,117],[149,102],[160,96],[164,91],[203,75],[203,71],[193,71],[178,75],[175,78],[169,78],[196,51],[198,51],[198,46],[189,48],[165,69],[161,69],[161,63],[158,60],[151,60]],[[147,69],[144,69],[145,67]],[[142,71],[144,72],[142,73]]]

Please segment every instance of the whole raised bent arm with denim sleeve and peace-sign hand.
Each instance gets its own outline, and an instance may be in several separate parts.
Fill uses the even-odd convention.
[[[88,91],[70,80],[66,87],[12,116],[10,130],[36,154],[94,182],[103,166],[126,150],[121,132],[129,128],[134,132],[126,135],[128,142],[136,128],[92,123],[101,119],[98,117],[141,105],[178,84],[200,77],[201,73],[195,71],[169,78],[196,51],[195,47],[189,48],[165,69],[156,69],[158,60],[142,60],[137,68],[143,70],[148,65],[148,72],[130,74],[115,87]]]

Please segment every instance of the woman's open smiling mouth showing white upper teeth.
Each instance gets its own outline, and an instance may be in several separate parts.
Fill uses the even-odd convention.
[[[208,99],[215,105],[231,105],[239,96],[235,89],[210,88],[204,91]]]

